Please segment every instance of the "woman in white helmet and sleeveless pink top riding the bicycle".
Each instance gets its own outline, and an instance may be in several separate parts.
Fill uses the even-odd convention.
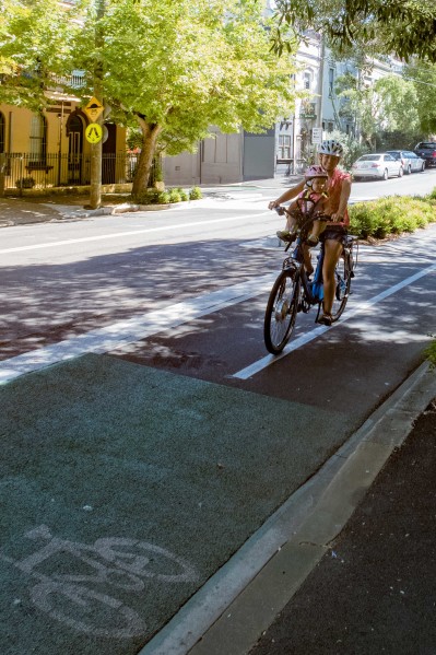
[[[327,190],[329,199],[326,204],[326,214],[330,217],[326,230],[321,235],[325,242],[325,260],[322,266],[323,279],[323,314],[320,323],[331,325],[331,308],[334,300],[335,280],[334,268],[343,250],[343,237],[346,234],[346,227],[350,224],[346,204],[351,194],[351,175],[337,168],[343,154],[342,144],[334,139],[323,141],[319,149],[319,163],[328,176]],[[276,200],[269,203],[270,209],[279,207],[282,202],[292,200],[304,189],[305,182],[301,182],[291,189],[287,189]]]

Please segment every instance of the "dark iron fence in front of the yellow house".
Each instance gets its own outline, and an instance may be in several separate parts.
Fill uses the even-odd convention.
[[[102,184],[133,180],[138,154],[120,152],[103,154]],[[91,183],[91,156],[83,154],[46,154],[35,160],[30,153],[4,153],[4,188],[49,189],[84,186]]]

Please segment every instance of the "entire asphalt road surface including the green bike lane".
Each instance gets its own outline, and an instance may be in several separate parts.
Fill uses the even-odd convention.
[[[436,225],[273,358],[276,189],[245,194],[2,233],[5,655],[138,653],[421,363]]]

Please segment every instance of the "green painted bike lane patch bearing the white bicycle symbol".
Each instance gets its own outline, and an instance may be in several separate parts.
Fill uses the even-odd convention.
[[[340,412],[108,355],[0,406],[2,655],[138,653],[346,436]]]

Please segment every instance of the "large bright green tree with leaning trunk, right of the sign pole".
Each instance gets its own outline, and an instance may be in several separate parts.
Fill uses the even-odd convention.
[[[76,35],[86,69],[92,32],[87,13]],[[108,0],[102,32],[105,100],[143,137],[133,195],[146,186],[160,143],[175,154],[211,125],[261,131],[293,107],[295,67],[269,51],[254,0]]]

